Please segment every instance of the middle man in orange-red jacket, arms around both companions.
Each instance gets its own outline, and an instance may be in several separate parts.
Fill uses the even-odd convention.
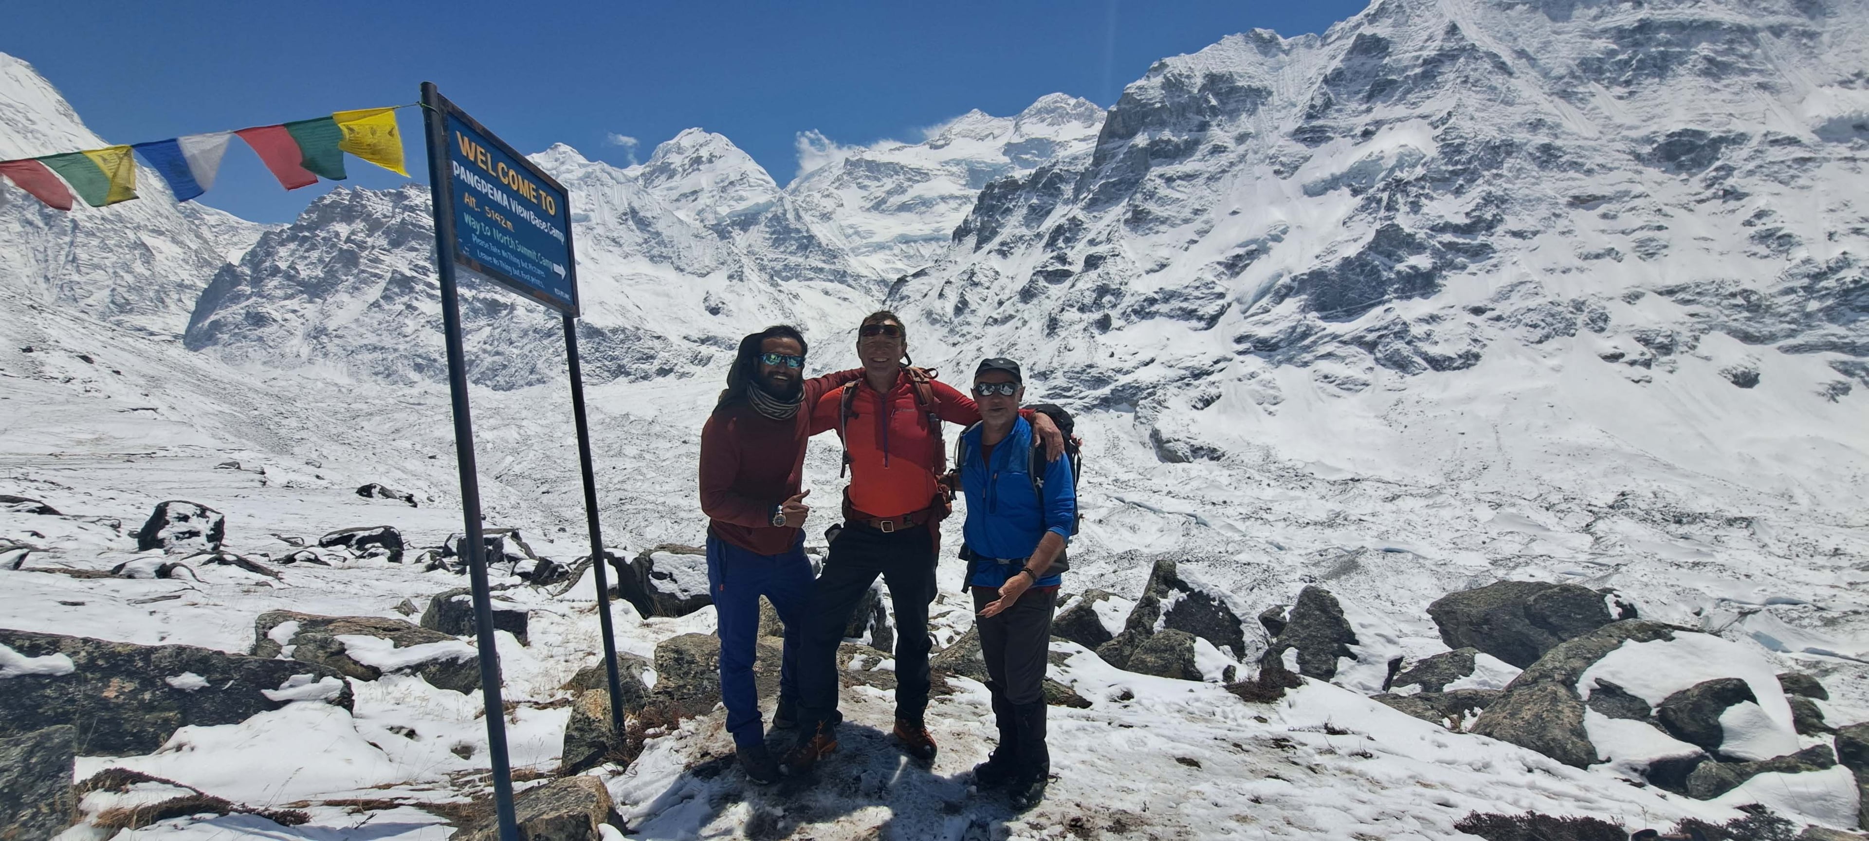
[[[895,738],[916,759],[934,759],[923,725],[929,703],[929,604],[940,520],[949,497],[938,477],[948,452],[940,424],[979,422],[979,407],[957,389],[906,368],[908,333],[893,312],[875,312],[858,327],[863,378],[828,391],[811,411],[811,434],[837,430],[850,486],[843,529],[830,544],[806,611],[798,652],[798,744],[781,768],[809,770],[837,748],[837,645],[850,613],[880,574],[895,607]],[[1026,413],[1052,458],[1063,435],[1041,413]]]

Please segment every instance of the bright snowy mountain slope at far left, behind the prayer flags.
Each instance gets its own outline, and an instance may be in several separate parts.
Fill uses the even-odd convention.
[[[32,65],[0,52],[0,161],[107,146]],[[73,306],[150,335],[179,335],[196,295],[226,264],[161,178],[136,179],[138,202],[50,209],[0,185],[0,293]],[[0,179],[4,181],[4,179]]]

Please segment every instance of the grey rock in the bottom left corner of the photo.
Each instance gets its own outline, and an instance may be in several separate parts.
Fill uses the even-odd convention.
[[[71,725],[0,738],[0,839],[47,841],[78,820],[77,738]]]

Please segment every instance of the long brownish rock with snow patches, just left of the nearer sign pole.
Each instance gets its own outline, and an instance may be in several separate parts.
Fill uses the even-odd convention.
[[[374,637],[383,643],[338,637]],[[254,622],[252,654],[318,663],[357,680],[400,673],[421,675],[437,690],[471,693],[480,688],[475,647],[402,619],[267,611]]]

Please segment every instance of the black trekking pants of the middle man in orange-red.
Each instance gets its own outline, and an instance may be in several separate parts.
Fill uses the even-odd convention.
[[[934,602],[934,540],[927,525],[882,533],[845,523],[806,611],[798,652],[798,720],[837,721],[837,645],[850,613],[882,576],[895,607],[895,718],[921,721],[929,706],[929,602]]]

